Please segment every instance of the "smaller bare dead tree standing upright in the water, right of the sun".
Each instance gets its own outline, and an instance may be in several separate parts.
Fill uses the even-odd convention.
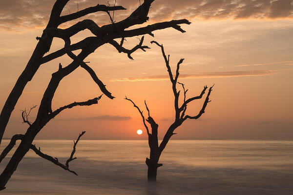
[[[196,116],[185,115],[188,103],[190,103],[191,101],[196,100],[196,99],[201,99],[203,97],[203,95],[205,94],[206,90],[208,89],[208,87],[204,86],[204,89],[200,93],[199,96],[186,99],[186,93],[187,93],[188,90],[185,90],[185,87],[184,87],[183,83],[180,83],[180,82],[177,81],[178,77],[179,77],[180,64],[183,62],[184,59],[180,59],[179,62],[177,63],[176,74],[175,74],[175,77],[173,77],[173,74],[172,74],[172,71],[171,71],[171,68],[170,68],[170,65],[169,65],[169,55],[168,55],[168,57],[166,56],[163,45],[160,45],[156,41],[151,41],[151,43],[157,44],[162,49],[162,55],[163,55],[163,57],[165,59],[165,63],[166,63],[166,66],[167,66],[167,71],[168,71],[168,74],[169,74],[170,81],[172,83],[172,90],[173,90],[173,95],[174,95],[175,120],[169,126],[169,128],[167,129],[167,132],[166,132],[162,142],[160,143],[160,145],[158,143],[158,126],[159,125],[150,116],[149,109],[148,109],[148,107],[146,105],[146,101],[145,101],[145,106],[146,106],[146,110],[147,110],[147,113],[148,113],[147,119],[145,119],[145,117],[143,115],[143,111],[141,111],[140,108],[131,99],[128,99],[127,97],[125,99],[128,100],[128,101],[131,101],[133,106],[135,108],[137,108],[138,112],[140,113],[141,117],[143,118],[143,123],[144,123],[144,125],[146,127],[146,133],[147,133],[147,136],[148,136],[148,146],[149,146],[149,149],[150,149],[149,158],[146,157],[147,180],[148,181],[156,181],[157,169],[158,169],[158,167],[163,166],[163,164],[160,164],[158,162],[159,162],[160,156],[161,156],[163,150],[165,149],[169,139],[173,135],[176,134],[176,133],[174,133],[175,129],[177,127],[179,127],[186,119],[188,119],[188,118],[189,119],[197,119],[197,118],[201,117],[203,113],[205,113],[205,109],[206,109],[208,103],[210,102],[209,95],[210,95],[210,93],[212,91],[213,86],[209,87],[208,95],[207,95],[207,97],[206,97],[206,99],[204,101],[202,109],[199,111],[199,114],[196,115]],[[177,88],[176,88],[177,83],[182,85],[182,88],[183,88],[184,100],[183,100],[183,103],[181,104],[181,106],[179,105],[180,91],[177,91]],[[149,131],[148,126],[146,125],[146,121],[150,125],[151,132]]]

